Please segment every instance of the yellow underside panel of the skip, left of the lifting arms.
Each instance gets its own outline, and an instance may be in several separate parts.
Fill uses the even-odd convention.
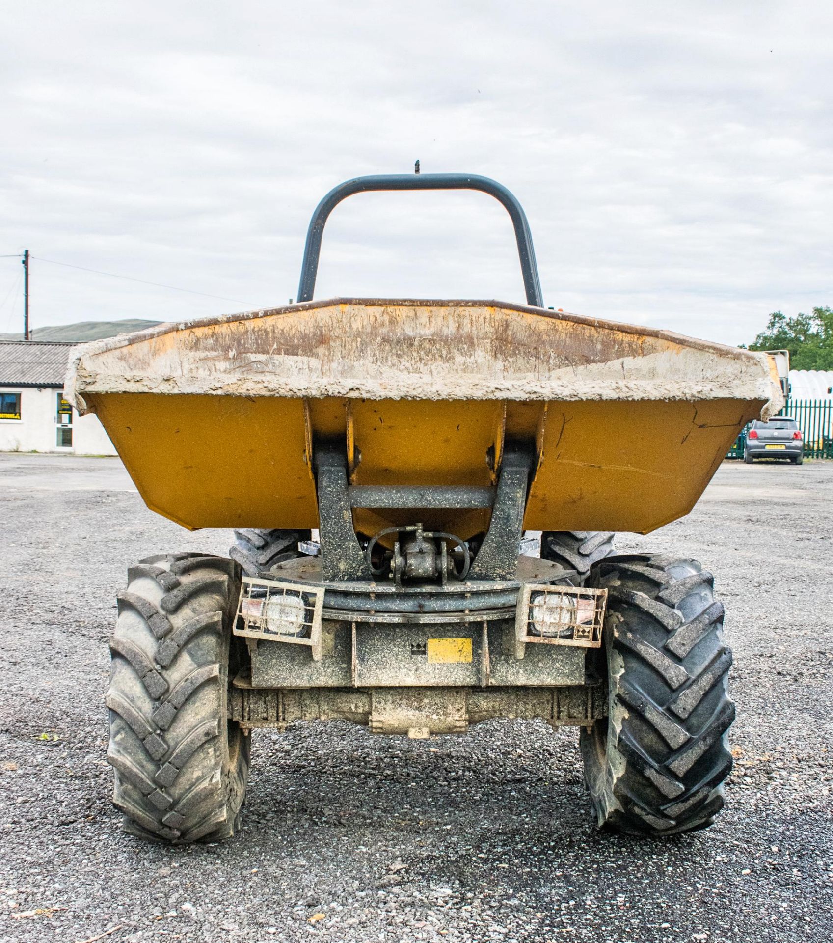
[[[190,530],[318,525],[302,400],[154,393],[89,399],[145,504],[166,518]]]

